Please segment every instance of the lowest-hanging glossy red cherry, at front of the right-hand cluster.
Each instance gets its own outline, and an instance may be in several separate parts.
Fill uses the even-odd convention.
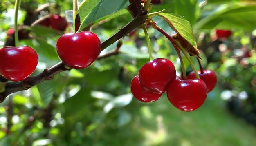
[[[206,99],[207,87],[201,79],[174,80],[167,90],[168,100],[181,111],[194,111]]]

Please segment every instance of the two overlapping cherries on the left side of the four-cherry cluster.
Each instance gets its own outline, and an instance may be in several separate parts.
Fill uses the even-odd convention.
[[[176,70],[170,60],[157,58],[144,64],[139,74],[132,79],[132,94],[142,102],[153,102],[167,91],[176,77]]]

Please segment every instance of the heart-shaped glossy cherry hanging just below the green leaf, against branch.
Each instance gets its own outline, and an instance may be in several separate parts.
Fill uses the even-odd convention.
[[[57,41],[57,52],[61,60],[74,69],[90,66],[101,51],[98,36],[90,31],[67,33]]]

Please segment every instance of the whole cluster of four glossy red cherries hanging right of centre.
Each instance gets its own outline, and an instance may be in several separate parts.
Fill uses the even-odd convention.
[[[176,75],[173,63],[165,58],[157,58],[144,64],[132,79],[131,91],[141,102],[154,102],[167,92],[168,100],[182,111],[199,108],[216,85],[216,75],[211,70],[203,70],[200,79],[194,72],[184,80]]]

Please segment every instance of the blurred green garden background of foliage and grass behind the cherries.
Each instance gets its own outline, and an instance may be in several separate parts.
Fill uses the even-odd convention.
[[[14,0],[0,3],[0,47],[6,41],[7,29],[14,24],[13,4]],[[28,10],[34,11],[43,4],[43,0],[22,0],[18,23],[23,24]],[[58,0],[58,4],[58,9],[49,7],[37,17],[56,10],[64,15],[72,9],[70,0]],[[255,7],[255,0],[164,0],[152,6],[152,12],[166,9],[164,12],[184,16],[191,23],[202,65],[216,71],[218,84],[198,110],[179,111],[166,95],[147,104],[135,100],[130,81],[148,62],[144,33],[136,29],[135,36],[123,38],[119,55],[97,60],[83,70],[59,73],[53,80],[10,95],[0,106],[0,146],[256,145],[255,127],[244,120],[248,121],[246,114],[251,119],[256,114]],[[101,42],[132,20],[129,13],[122,14],[94,24],[92,31]],[[166,32],[173,33],[162,19],[154,20]],[[60,61],[55,46],[63,32],[41,26],[27,29],[30,39],[20,43],[38,53],[36,75]],[[218,40],[215,29],[228,29],[233,34],[227,40]],[[180,74],[180,62],[171,43],[154,29],[148,31],[154,58],[168,58]],[[116,45],[117,42],[101,55]],[[245,57],[248,53],[250,56]],[[196,64],[196,60],[193,62]],[[184,63],[190,72],[188,62]],[[235,106],[234,99],[238,101]],[[238,112],[244,119],[226,109]]]

